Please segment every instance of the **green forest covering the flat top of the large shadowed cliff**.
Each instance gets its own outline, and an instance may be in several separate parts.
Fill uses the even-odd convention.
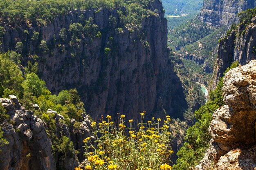
[[[154,0],[1,0],[0,22],[13,27],[22,24],[31,26],[45,25],[59,15],[65,15],[76,9],[119,8],[122,23],[138,24],[144,15],[152,13]],[[158,12],[158,11],[155,11]]]

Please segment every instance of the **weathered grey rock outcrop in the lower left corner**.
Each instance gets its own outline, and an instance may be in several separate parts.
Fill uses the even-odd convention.
[[[72,126],[67,127],[60,123],[63,116],[58,115],[53,110],[48,110],[54,114],[56,120],[56,136],[68,137],[74,144],[74,150],[80,153],[63,157],[60,153],[52,155],[52,139],[49,135],[47,125],[39,119],[32,111],[25,110],[19,103],[16,96],[9,96],[10,99],[0,98],[0,104],[10,115],[12,124],[2,124],[4,139],[9,144],[4,145],[0,150],[0,169],[1,170],[55,170],[56,168],[74,170],[79,161],[83,161],[84,143],[83,139],[90,137],[90,120],[88,115],[84,115],[84,121],[79,129]],[[56,147],[56,146],[54,146]],[[78,161],[79,159],[79,161]]]

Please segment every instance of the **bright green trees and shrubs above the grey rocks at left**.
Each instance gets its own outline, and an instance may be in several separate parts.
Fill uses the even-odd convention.
[[[25,68],[20,65],[20,55],[9,51],[0,54],[0,97],[16,95],[26,110],[34,110],[34,115],[43,119],[48,127],[48,135],[52,139],[52,152],[59,153],[63,157],[71,156],[74,153],[72,141],[63,136],[56,137],[56,121],[54,114],[47,113],[48,109],[56,110],[64,117],[62,124],[69,125],[70,119],[82,121],[82,114],[85,113],[83,103],[76,89],[61,91],[58,95],[52,95],[45,82],[39,79],[37,63],[28,64]],[[38,104],[41,110],[36,110],[33,104]],[[9,115],[0,105],[0,124],[9,122]],[[11,123],[11,122],[9,122]],[[0,130],[0,146],[7,141],[2,139]]]

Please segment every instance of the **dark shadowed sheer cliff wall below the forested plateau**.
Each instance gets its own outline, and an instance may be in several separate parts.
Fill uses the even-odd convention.
[[[119,13],[124,8],[77,10],[47,26],[6,27],[2,49],[15,50],[21,41],[25,61],[31,60],[30,55],[39,56],[39,75],[49,90],[76,88],[94,119],[125,113],[136,120],[143,110],[162,117],[164,109],[172,117],[181,117],[186,101],[168,57],[162,2],[156,0],[152,8],[155,13],[145,16],[140,26],[130,24],[129,29],[121,24]],[[70,24],[84,26],[90,18],[100,34],[82,33],[77,35],[79,40],[74,39]],[[63,28],[66,40],[59,35]],[[31,40],[34,31],[39,33],[38,40]],[[47,52],[40,49],[41,40],[47,42]]]

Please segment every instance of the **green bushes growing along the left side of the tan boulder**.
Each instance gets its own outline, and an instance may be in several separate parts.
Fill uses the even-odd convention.
[[[225,73],[237,66],[238,62],[234,62]],[[179,158],[173,166],[175,170],[193,169],[203,158],[205,151],[209,147],[209,140],[211,139],[208,132],[209,124],[212,119],[211,116],[217,108],[224,105],[222,86],[223,77],[220,79],[217,88],[210,92],[209,101],[204,106],[201,106],[199,110],[195,111],[194,116],[198,121],[186,132],[186,142],[177,152]]]

